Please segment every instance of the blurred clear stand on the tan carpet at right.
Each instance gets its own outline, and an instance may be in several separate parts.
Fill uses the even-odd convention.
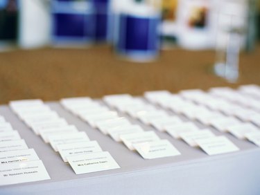
[[[218,12],[214,72],[228,82],[239,79],[239,54],[245,45],[247,5],[229,1]]]

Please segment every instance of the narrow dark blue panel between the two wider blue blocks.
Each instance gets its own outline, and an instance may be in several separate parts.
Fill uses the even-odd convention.
[[[92,0],[95,18],[95,41],[107,41],[110,36],[110,0]]]

